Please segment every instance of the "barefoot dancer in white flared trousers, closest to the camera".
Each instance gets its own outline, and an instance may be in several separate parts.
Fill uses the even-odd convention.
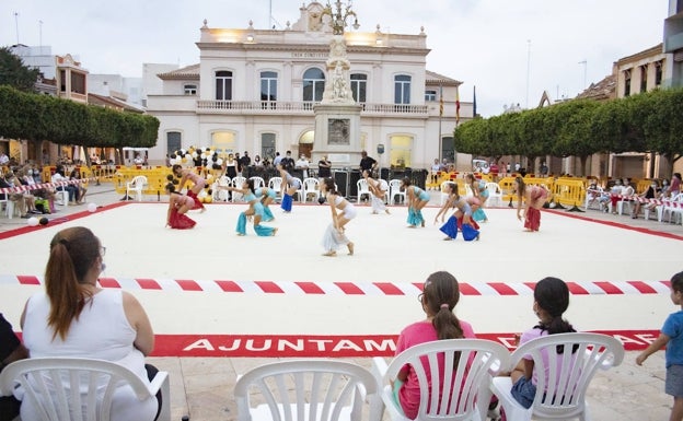
[[[356,218],[356,208],[339,195],[332,178],[325,178],[320,188],[332,211],[332,223],[323,236],[323,247],[325,248],[323,256],[336,256],[337,249],[344,245],[348,248],[348,254],[354,255],[354,243],[346,237],[344,231],[345,225]]]

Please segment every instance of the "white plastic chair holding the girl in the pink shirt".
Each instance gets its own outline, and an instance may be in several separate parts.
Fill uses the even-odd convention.
[[[448,339],[408,348],[389,365],[383,358],[374,358],[372,369],[391,420],[409,421],[397,407],[390,382],[410,364],[420,386],[418,420],[483,421],[491,396],[491,376],[508,365],[509,356],[507,348],[498,342]]]

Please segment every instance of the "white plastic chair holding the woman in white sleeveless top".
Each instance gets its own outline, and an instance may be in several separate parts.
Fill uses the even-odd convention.
[[[130,387],[140,401],[154,399],[161,390],[159,420],[171,420],[169,373],[159,372],[150,385],[123,365],[81,358],[19,360],[0,373],[0,395],[16,387],[42,411],[42,421],[108,421],[115,393]]]

